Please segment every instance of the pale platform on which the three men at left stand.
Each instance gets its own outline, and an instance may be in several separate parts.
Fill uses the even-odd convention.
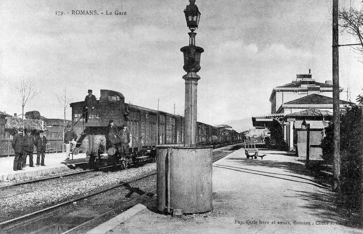
[[[76,158],[84,158],[85,154],[78,154],[73,156]],[[9,157],[0,157],[0,182],[17,180],[21,178],[32,178],[37,176],[50,175],[53,173],[60,173],[70,171],[70,168],[67,166],[65,162],[66,153],[51,153],[45,154],[44,158],[44,166],[36,166],[36,154],[33,155],[33,162],[35,167],[29,167],[29,156],[26,159],[26,167],[25,170],[14,171],[14,156]]]

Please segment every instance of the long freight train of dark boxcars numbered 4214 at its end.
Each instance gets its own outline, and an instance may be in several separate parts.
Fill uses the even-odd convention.
[[[67,164],[89,162],[91,167],[103,166],[110,159],[108,139],[109,120],[117,126],[127,124],[131,133],[131,147],[123,168],[131,164],[143,164],[155,160],[156,145],[183,144],[184,117],[163,111],[125,103],[125,97],[116,91],[101,90],[94,109],[85,113],[85,102],[71,103],[73,131],[77,139],[78,153],[82,158],[66,160]],[[196,142],[198,145],[224,146],[241,142],[242,135],[231,128],[215,127],[197,122]],[[113,157],[119,157],[117,152]],[[114,159],[114,158],[113,158]]]

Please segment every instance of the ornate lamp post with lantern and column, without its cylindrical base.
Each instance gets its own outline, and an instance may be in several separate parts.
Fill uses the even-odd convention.
[[[195,0],[189,0],[190,4],[186,6],[184,10],[185,20],[189,34],[189,45],[180,49],[184,55],[184,71],[187,72],[183,76],[185,79],[185,127],[184,127],[184,145],[196,144],[196,129],[197,129],[197,85],[200,76],[197,72],[200,70],[200,54],[204,52],[204,49],[195,45],[194,32],[198,28],[200,20],[200,12],[198,6],[195,4]]]

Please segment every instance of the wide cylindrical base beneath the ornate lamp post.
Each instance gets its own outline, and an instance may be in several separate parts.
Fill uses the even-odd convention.
[[[157,146],[157,207],[207,212],[212,205],[212,147]]]

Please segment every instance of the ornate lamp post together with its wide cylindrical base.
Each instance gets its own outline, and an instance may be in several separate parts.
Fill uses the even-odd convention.
[[[180,50],[184,55],[185,126],[184,145],[158,145],[157,148],[157,207],[159,211],[182,213],[207,212],[212,205],[212,147],[196,145],[197,85],[200,77],[200,54],[195,45],[194,30],[198,28],[200,12],[189,0],[184,10],[189,45]]]

